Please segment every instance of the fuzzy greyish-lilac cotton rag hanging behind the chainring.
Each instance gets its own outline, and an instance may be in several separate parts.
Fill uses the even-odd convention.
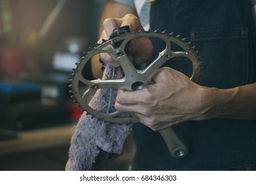
[[[107,64],[102,80],[123,78],[122,68]],[[99,89],[89,105],[103,112],[115,112],[117,89]],[[130,117],[122,113],[120,117]],[[123,154],[132,131],[130,124],[113,124],[84,112],[74,127],[65,170],[115,170],[115,156]]]

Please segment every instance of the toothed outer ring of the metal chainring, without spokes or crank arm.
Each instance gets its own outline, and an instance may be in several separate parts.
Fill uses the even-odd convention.
[[[118,118],[115,116],[111,116],[109,114],[104,114],[101,112],[96,112],[93,108],[89,106],[85,101],[87,99],[83,99],[82,95],[80,94],[79,86],[78,83],[81,81],[80,79],[80,72],[82,72],[84,66],[86,66],[86,63],[90,60],[91,57],[94,55],[97,55],[99,53],[104,53],[104,48],[107,45],[111,45],[113,42],[120,41],[120,40],[131,40],[134,37],[140,37],[140,36],[147,36],[147,37],[158,37],[159,39],[162,39],[164,41],[169,41],[170,43],[174,43],[173,39],[175,40],[175,43],[179,45],[182,49],[184,49],[186,45],[186,49],[184,51],[192,52],[193,53],[193,59],[196,60],[192,62],[193,66],[195,64],[195,69],[199,70],[195,74],[195,79],[192,79],[193,81],[198,81],[199,80],[199,75],[201,76],[201,57],[197,56],[198,51],[195,51],[195,47],[192,46],[192,43],[190,41],[186,42],[186,38],[180,38],[180,35],[174,35],[173,32],[170,34],[167,34],[166,30],[163,32],[160,32],[159,29],[152,31],[151,29],[149,30],[144,30],[141,29],[139,31],[132,31],[132,32],[126,32],[122,35],[118,35],[114,37],[113,39],[109,40],[103,40],[101,44],[95,43],[95,47],[90,47],[90,51],[84,52],[84,56],[80,58],[80,62],[76,62],[76,68],[73,68],[73,73],[70,74],[71,79],[70,85],[68,87],[72,88],[69,92],[72,94],[71,97],[74,99],[74,103],[77,103],[77,107],[82,108],[82,110],[85,110],[87,114],[91,114],[91,116],[94,116],[96,118],[99,118],[99,120],[105,120],[107,122],[113,122],[113,123],[119,123],[119,124],[130,124],[130,123],[136,123],[138,122],[138,118]],[[178,42],[178,43],[177,43]],[[192,58],[189,58],[192,61]],[[86,79],[83,79],[86,80]],[[91,83],[91,81],[88,81],[88,83]],[[85,84],[88,85],[88,84]],[[91,85],[88,85],[89,89],[91,88]],[[85,91],[84,93],[91,93],[93,89],[90,89],[88,91]],[[97,90],[97,89],[95,89]]]

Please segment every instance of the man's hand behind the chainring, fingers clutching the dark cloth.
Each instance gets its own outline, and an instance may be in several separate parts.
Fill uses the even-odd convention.
[[[109,39],[109,35],[112,34],[113,30],[121,26],[129,26],[130,31],[138,31],[142,28],[139,18],[134,14],[126,14],[122,18],[107,18],[103,22],[104,30],[98,43],[102,43],[103,39]],[[109,47],[111,47],[111,45],[109,45]],[[132,39],[128,44],[128,57],[132,60],[132,62],[136,64],[146,62],[151,57],[152,51],[152,43],[147,37],[137,37],[135,39]],[[101,53],[99,56],[101,60],[103,60],[103,62],[109,63],[114,67],[118,67],[120,65],[117,62],[116,56],[114,55],[109,55],[108,53]]]

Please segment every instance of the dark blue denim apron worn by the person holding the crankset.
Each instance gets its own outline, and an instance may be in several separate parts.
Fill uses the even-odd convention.
[[[195,45],[202,61],[200,85],[228,89],[256,81],[256,31],[249,2],[157,0],[151,4],[150,24],[152,30],[180,34]],[[163,47],[157,40],[153,44]],[[180,59],[170,67],[191,72]],[[184,158],[170,156],[158,132],[134,125],[134,170],[256,170],[256,121],[216,118],[173,129],[190,149]]]

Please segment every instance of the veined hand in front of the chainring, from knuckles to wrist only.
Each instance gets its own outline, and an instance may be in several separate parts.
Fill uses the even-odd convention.
[[[161,130],[186,120],[199,120],[203,114],[203,89],[184,74],[161,68],[143,89],[119,90],[115,108],[134,113],[145,126]]]

